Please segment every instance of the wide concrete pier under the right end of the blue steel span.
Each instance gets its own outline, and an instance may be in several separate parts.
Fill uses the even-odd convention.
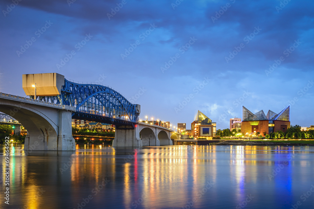
[[[113,147],[143,147],[138,124],[134,129],[116,129]]]

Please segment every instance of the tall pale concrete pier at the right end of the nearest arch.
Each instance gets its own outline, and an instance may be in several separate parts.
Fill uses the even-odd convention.
[[[72,136],[72,112],[67,110],[58,110],[58,149],[57,150],[75,150],[75,140]],[[48,150],[54,147],[47,142]]]

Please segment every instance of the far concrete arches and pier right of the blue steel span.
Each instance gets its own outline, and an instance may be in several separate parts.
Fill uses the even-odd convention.
[[[134,129],[116,129],[113,147],[142,147],[173,145],[181,133],[158,125],[143,122],[135,124]]]

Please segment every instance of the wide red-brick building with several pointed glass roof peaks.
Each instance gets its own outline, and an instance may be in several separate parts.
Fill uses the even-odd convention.
[[[257,132],[260,134],[286,132],[288,128],[290,128],[290,105],[278,114],[269,110],[267,115],[263,110],[253,114],[242,106],[241,133],[245,135],[255,135]]]

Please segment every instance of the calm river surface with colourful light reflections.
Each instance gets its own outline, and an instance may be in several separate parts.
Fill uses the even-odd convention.
[[[23,147],[10,144],[6,166],[0,146],[1,209],[314,208],[313,147]]]

